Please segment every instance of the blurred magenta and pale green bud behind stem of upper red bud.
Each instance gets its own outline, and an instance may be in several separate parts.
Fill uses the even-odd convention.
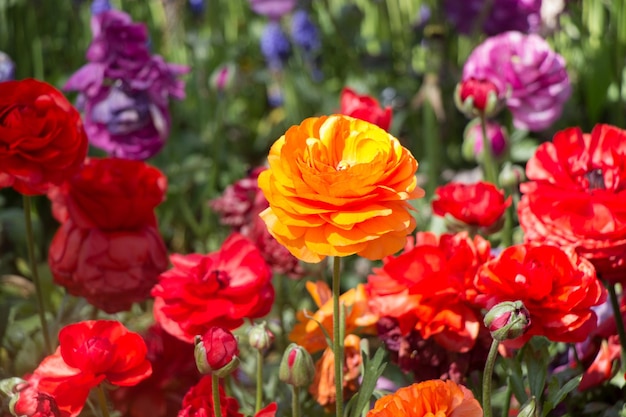
[[[496,160],[505,156],[508,147],[506,130],[497,122],[487,121],[487,143],[491,145],[491,154]],[[480,118],[469,122],[463,132],[463,157],[468,161],[483,160],[483,129]]]

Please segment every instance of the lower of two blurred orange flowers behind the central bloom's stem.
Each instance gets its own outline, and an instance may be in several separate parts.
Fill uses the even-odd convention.
[[[344,339],[344,363],[343,363],[343,398],[349,399],[359,389],[359,377],[361,376],[361,338],[349,334]],[[327,347],[322,357],[315,363],[315,377],[309,387],[309,392],[318,404],[324,407],[332,407],[337,399],[335,390],[335,354]]]

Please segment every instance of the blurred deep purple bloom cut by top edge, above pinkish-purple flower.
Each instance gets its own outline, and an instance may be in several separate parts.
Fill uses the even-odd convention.
[[[457,31],[470,34],[481,24],[489,36],[516,30],[536,32],[541,24],[541,0],[492,0],[485,15],[487,0],[445,0],[444,9],[448,20]]]

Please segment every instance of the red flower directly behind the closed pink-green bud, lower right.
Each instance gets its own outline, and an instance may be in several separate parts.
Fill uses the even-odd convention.
[[[506,248],[476,274],[476,302],[490,309],[520,300],[530,312],[530,327],[512,345],[531,336],[554,342],[580,342],[596,327],[591,309],[606,300],[593,265],[572,250],[523,244]]]

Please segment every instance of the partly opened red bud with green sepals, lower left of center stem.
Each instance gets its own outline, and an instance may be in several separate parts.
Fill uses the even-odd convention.
[[[239,365],[237,355],[237,339],[226,329],[211,327],[204,336],[196,336],[194,356],[201,374],[228,375]]]

